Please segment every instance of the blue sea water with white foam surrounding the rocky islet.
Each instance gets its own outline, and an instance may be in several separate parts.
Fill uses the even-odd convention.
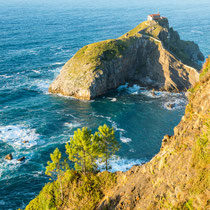
[[[48,87],[84,45],[121,36],[157,13],[184,40],[210,54],[209,0],[0,1],[0,209],[25,208],[49,182],[50,153],[86,126],[114,127],[121,145],[111,171],[151,160],[184,114],[183,93],[124,84],[91,101],[52,95]],[[168,104],[174,103],[172,109]],[[7,154],[13,160],[5,160]],[[25,157],[19,162],[18,158]]]

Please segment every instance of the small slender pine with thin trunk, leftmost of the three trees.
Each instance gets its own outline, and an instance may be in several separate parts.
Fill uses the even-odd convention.
[[[61,176],[64,172],[69,168],[66,160],[61,161],[62,155],[58,148],[54,150],[52,154],[50,154],[51,161],[47,162],[47,167],[45,174],[51,176],[54,180],[57,178],[60,184],[61,198],[63,200],[63,187],[61,182]]]

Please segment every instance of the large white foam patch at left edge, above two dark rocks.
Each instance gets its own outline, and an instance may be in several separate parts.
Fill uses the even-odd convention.
[[[21,125],[0,126],[0,140],[11,145],[15,150],[37,145],[38,139],[39,134],[36,133],[35,129]]]

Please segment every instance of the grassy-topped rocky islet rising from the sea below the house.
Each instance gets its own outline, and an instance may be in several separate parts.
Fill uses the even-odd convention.
[[[145,21],[118,39],[84,46],[49,92],[90,100],[126,82],[185,91],[198,81],[197,60],[203,60],[198,46],[180,40],[167,20]]]

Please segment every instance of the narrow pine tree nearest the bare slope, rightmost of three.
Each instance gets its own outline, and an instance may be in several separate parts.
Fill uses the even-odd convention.
[[[100,157],[102,162],[105,163],[106,171],[110,169],[109,159],[119,150],[119,144],[115,138],[114,128],[110,128],[106,124],[98,127],[98,145],[100,148]]]

